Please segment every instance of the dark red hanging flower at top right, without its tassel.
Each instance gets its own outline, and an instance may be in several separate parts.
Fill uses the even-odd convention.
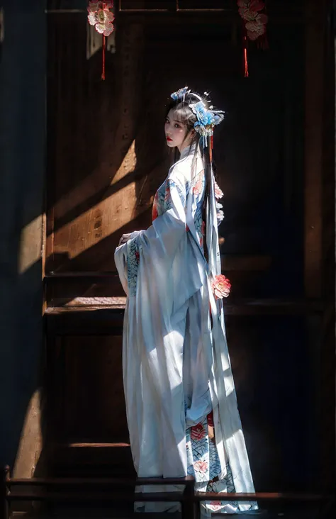
[[[238,11],[245,23],[247,38],[257,40],[266,33],[268,17],[260,12],[264,11],[265,4],[262,0],[238,0]]]

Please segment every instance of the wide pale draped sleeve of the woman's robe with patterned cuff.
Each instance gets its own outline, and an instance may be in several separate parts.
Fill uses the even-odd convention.
[[[175,168],[165,183],[164,213],[155,218],[150,228],[132,235],[115,253],[126,294],[135,297],[145,287],[150,288],[152,294],[157,293],[159,306],[164,303],[171,316],[202,284],[197,266],[192,268],[194,254],[186,225],[187,189],[183,172]]]

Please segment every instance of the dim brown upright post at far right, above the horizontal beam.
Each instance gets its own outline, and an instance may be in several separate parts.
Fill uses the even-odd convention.
[[[323,70],[327,0],[306,1],[305,292],[322,289]]]

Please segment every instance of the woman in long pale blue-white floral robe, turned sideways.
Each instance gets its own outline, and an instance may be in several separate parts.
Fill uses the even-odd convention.
[[[128,295],[125,401],[138,476],[192,474],[198,491],[254,492],[225,337],[223,193],[211,163],[213,128],[223,112],[212,108],[187,87],[172,94],[164,131],[179,160],[157,190],[150,228],[123,235],[116,249]],[[145,510],[169,507],[148,503]],[[202,515],[254,508],[206,501]]]

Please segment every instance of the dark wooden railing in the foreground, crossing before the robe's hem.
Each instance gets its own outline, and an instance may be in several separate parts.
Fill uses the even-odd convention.
[[[184,486],[177,492],[135,492],[135,486],[145,485]],[[318,503],[320,513],[316,519],[327,519],[335,512],[336,493],[300,492],[196,492],[194,477],[184,478],[31,478],[16,479],[4,469],[2,482],[4,519],[11,517],[11,505],[15,501],[44,501],[49,503],[130,503],[130,502],[178,502],[181,503],[181,519],[198,517],[196,505],[201,501],[273,501],[273,503]]]

